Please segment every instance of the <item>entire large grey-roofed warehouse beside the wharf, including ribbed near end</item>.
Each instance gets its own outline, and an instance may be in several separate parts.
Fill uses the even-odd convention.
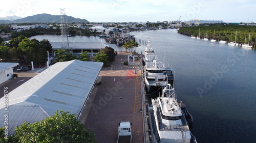
[[[60,109],[75,113],[79,119],[102,65],[79,60],[58,62],[11,91],[8,107],[4,106],[6,99],[1,98],[1,119],[8,109],[8,134],[13,135],[14,129],[24,122],[40,122]],[[0,122],[0,127],[5,126],[5,122]]]

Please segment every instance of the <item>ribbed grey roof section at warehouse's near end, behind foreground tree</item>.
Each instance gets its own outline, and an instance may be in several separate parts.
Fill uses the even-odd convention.
[[[7,113],[8,117],[4,115]],[[30,122],[31,124],[44,120],[49,115],[39,105],[10,105],[8,106],[8,112],[4,108],[0,109],[1,119],[7,118],[7,120],[1,120],[0,127],[8,126],[8,135],[15,133],[14,129],[17,126],[24,124],[24,122]],[[7,121],[8,125],[4,121]]]

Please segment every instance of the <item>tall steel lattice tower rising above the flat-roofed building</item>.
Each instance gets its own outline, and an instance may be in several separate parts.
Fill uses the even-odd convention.
[[[62,49],[69,49],[69,28],[67,24],[67,18],[65,14],[65,9],[60,9],[60,31],[62,38]]]

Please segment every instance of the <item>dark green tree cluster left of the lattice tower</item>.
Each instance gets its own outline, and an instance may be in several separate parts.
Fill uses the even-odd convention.
[[[19,62],[25,65],[33,61],[39,65],[47,61],[47,51],[51,49],[48,40],[30,40],[25,36],[19,36],[0,45],[0,59],[1,62]]]

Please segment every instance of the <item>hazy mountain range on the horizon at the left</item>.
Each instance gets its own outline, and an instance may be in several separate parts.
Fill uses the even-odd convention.
[[[66,16],[67,22],[89,22],[86,19],[80,19],[80,18],[74,18],[72,16]],[[6,17],[5,17],[6,18]],[[16,19],[15,19],[16,18]],[[60,16],[59,15],[51,15],[51,14],[36,14],[33,16],[28,16],[25,18],[19,17],[14,17],[15,20],[2,20],[0,19],[0,23],[60,23]]]

